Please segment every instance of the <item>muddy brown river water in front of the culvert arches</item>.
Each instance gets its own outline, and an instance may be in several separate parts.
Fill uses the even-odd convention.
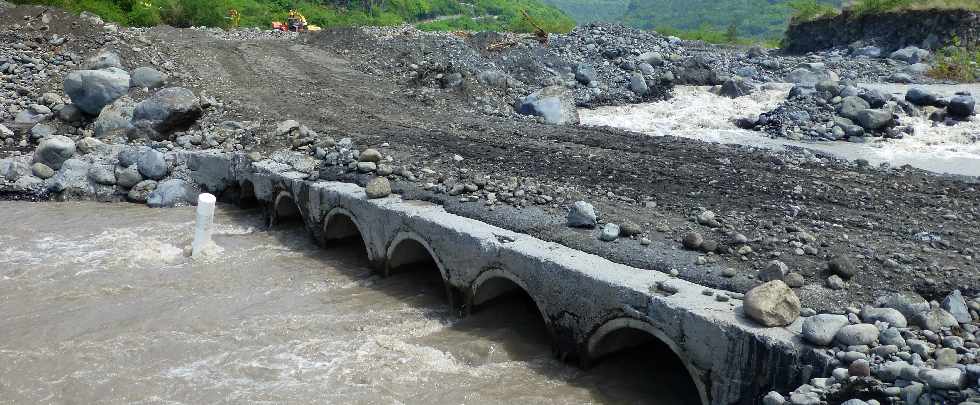
[[[380,277],[362,247],[219,207],[0,202],[0,403],[695,403],[656,348],[556,360],[514,297],[454,316],[435,269]]]

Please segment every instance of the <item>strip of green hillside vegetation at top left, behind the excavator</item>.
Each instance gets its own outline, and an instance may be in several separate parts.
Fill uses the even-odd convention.
[[[431,29],[499,29],[530,31],[521,10],[545,29],[567,31],[575,23],[566,14],[539,0],[13,0],[75,12],[88,11],[107,21],[131,26],[167,24],[175,27],[228,27],[228,11],[238,10],[243,27],[270,26],[284,21],[289,10],[303,13],[322,27],[397,25],[450,16]]]

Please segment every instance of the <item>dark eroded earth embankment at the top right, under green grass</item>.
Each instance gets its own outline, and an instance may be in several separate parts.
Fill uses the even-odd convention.
[[[980,45],[980,14],[965,10],[913,10],[876,15],[843,13],[790,24],[785,49],[793,53],[844,48],[855,42],[885,50],[914,45],[926,49],[958,40],[960,45]]]

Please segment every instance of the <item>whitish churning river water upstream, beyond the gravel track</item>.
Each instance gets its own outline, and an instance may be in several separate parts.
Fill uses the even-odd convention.
[[[871,164],[911,165],[937,173],[980,176],[980,119],[955,126],[935,125],[924,116],[902,117],[915,129],[904,139],[869,142],[801,142],[771,139],[765,133],[739,129],[733,120],[775,108],[788,94],[785,86],[730,99],[706,87],[680,86],[672,99],[654,103],[579,110],[582,125],[610,126],[652,136],[679,136],[705,142],[770,149],[787,146],[821,151],[841,159]]]

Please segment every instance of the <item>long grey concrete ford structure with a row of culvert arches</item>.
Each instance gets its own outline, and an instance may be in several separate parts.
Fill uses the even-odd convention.
[[[831,359],[799,338],[801,321],[762,328],[740,302],[718,302],[705,288],[656,271],[610,262],[446,212],[398,195],[369,200],[350,183],[306,180],[272,161],[185,153],[189,176],[215,194],[266,208],[270,223],[301,219],[323,244],[363,240],[386,274],[431,261],[450,305],[468,312],[514,290],[537,305],[556,354],[584,366],[649,341],[684,364],[703,404],[756,404],[770,389],[789,390],[828,374]],[[676,289],[658,290],[660,282]],[[678,370],[678,372],[682,372]]]

